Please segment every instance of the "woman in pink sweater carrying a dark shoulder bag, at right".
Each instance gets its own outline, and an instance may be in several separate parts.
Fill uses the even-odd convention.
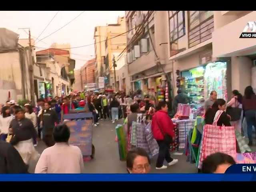
[[[227,103],[227,107],[238,107],[242,109],[242,94],[238,92],[238,90],[232,91],[232,99]],[[243,112],[241,112],[241,118],[237,121],[231,121],[231,126],[234,126],[236,130],[241,133],[242,130],[242,117]]]

